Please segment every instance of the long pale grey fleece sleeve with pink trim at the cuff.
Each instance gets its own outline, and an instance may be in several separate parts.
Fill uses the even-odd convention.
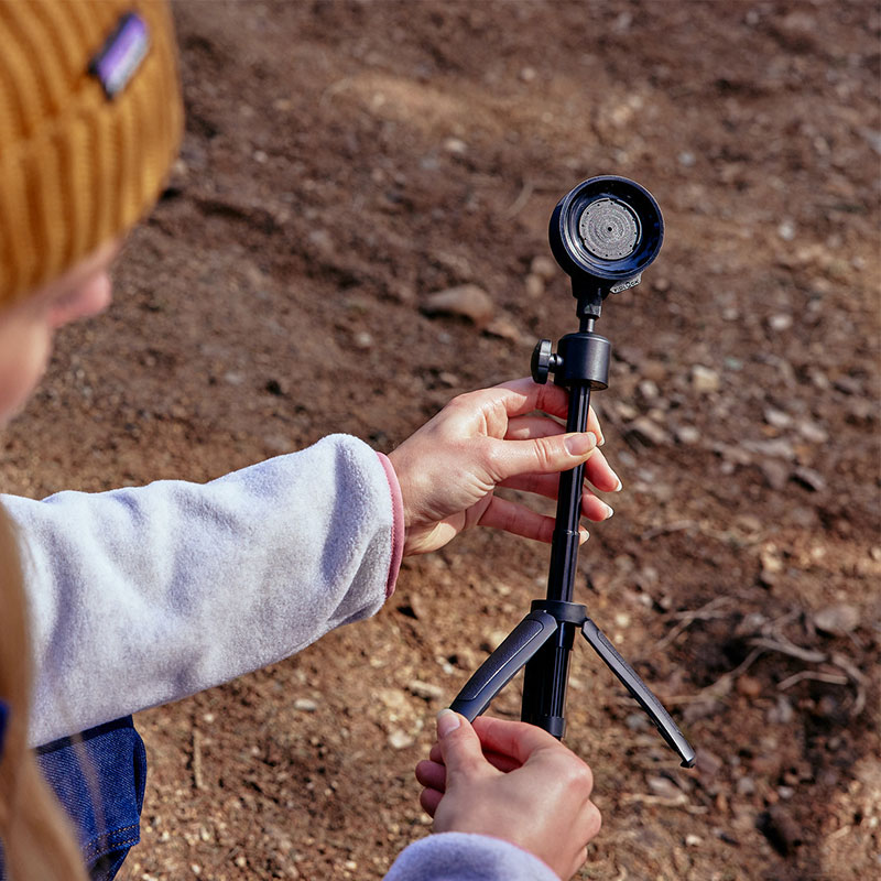
[[[391,467],[314,446],[209,483],[4,496],[31,607],[31,742],[281,660],[376,612],[401,559]]]

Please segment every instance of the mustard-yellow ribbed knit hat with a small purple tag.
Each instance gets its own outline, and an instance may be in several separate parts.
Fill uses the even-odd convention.
[[[0,308],[127,232],[182,128],[164,0],[0,0]]]

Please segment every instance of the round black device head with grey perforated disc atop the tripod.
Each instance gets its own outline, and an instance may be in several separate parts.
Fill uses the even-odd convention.
[[[548,236],[573,293],[589,286],[605,296],[639,284],[661,250],[664,219],[645,187],[627,177],[591,177],[559,200]]]

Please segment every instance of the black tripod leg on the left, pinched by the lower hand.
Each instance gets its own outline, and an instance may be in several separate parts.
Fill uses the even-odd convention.
[[[450,709],[474,721],[556,629],[553,614],[530,612],[465,683]]]

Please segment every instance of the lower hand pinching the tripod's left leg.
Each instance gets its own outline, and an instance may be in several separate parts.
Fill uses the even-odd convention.
[[[562,879],[587,859],[601,817],[590,801],[590,768],[546,731],[483,716],[474,727],[444,711],[438,742],[416,765],[434,830],[502,838],[529,850]]]

